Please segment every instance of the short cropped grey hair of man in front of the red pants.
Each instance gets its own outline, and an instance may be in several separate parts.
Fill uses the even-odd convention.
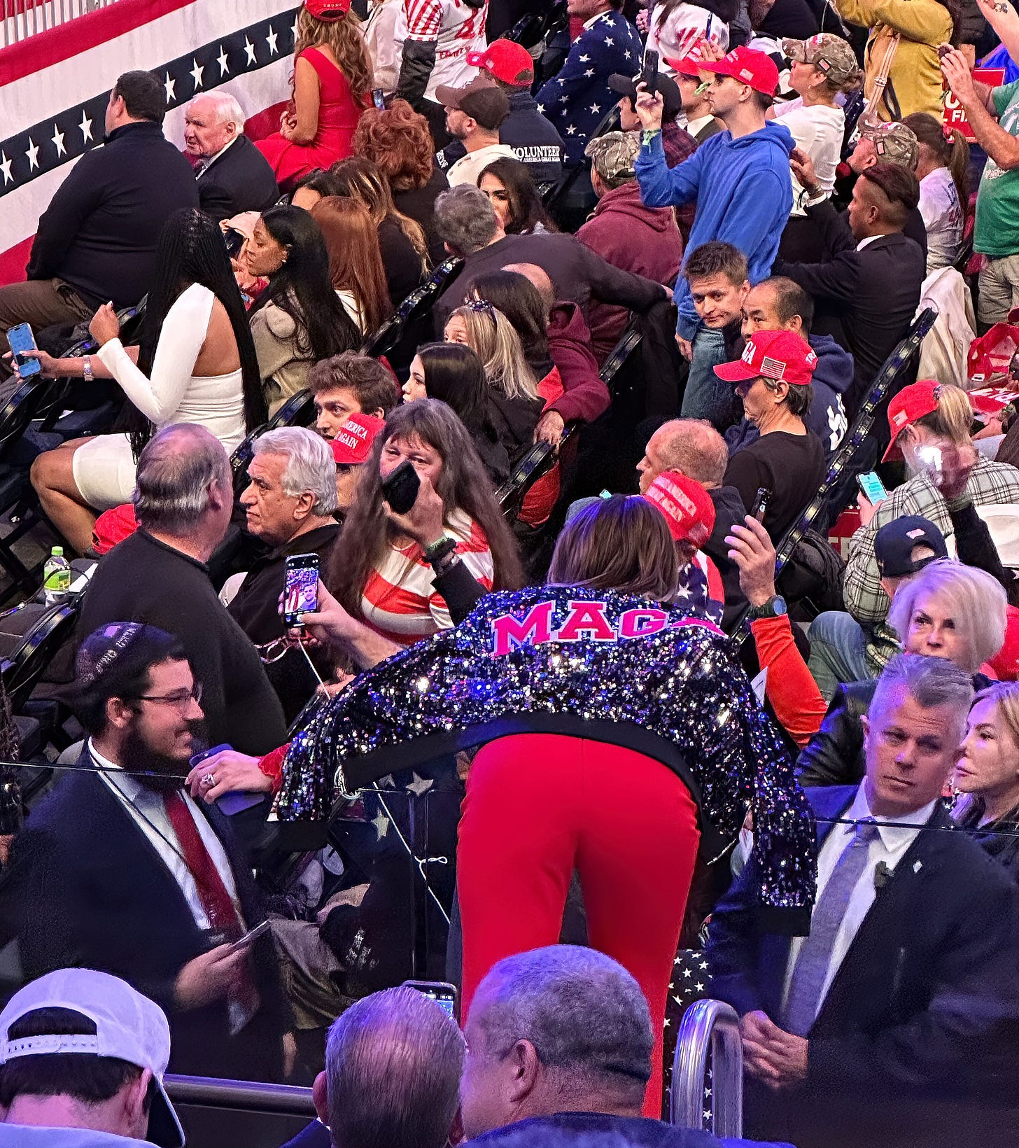
[[[492,1055],[529,1040],[546,1069],[586,1078],[592,1088],[610,1079],[643,1093],[651,1078],[647,1000],[597,949],[552,945],[505,957],[479,985],[475,1017]]]

